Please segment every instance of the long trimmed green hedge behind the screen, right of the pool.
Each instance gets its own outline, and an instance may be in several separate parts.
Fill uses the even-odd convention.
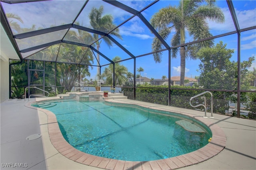
[[[178,89],[179,88],[179,89]],[[186,89],[180,89],[186,88]],[[191,88],[191,90],[190,90]],[[172,86],[170,90],[170,106],[182,107],[188,109],[199,109],[204,111],[204,107],[191,107],[189,104],[190,98],[202,93],[201,90],[193,90],[195,87],[188,86]],[[225,114],[229,109],[229,97],[233,92],[212,92],[213,94],[213,112]],[[210,112],[210,94],[206,93],[206,108]],[[150,102],[155,104],[168,105],[168,86],[154,86],[154,85],[138,85],[136,88],[136,100]],[[192,105],[203,104],[203,98],[194,98]]]

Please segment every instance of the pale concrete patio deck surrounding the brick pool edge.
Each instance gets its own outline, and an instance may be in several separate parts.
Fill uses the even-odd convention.
[[[52,98],[48,98],[52,99]],[[58,98],[59,99],[59,98]],[[42,98],[31,99],[42,100]],[[111,100],[110,100],[111,101]],[[204,112],[176,107],[160,106],[133,100],[119,100],[122,102],[154,106],[173,111],[187,112],[195,116],[203,116]],[[44,111],[25,107],[24,100],[8,100],[0,105],[1,118],[1,169],[48,169],[48,170],[74,170],[74,169],[100,169],[80,164],[63,156],[52,145],[48,129],[49,117]],[[216,156],[191,166],[184,170],[255,170],[256,169],[256,121],[214,114],[215,118],[208,121],[218,125],[226,135],[226,147]],[[28,141],[26,137],[41,133],[42,137]],[[9,164],[8,164],[9,163]],[[19,163],[14,167],[15,163]],[[6,167],[7,164],[12,167]],[[159,167],[154,164],[152,166]],[[115,169],[125,169],[115,164]],[[135,167],[136,168],[136,167]],[[166,167],[168,168],[168,167]],[[147,169],[144,167],[143,169]],[[171,169],[171,168],[170,168]]]

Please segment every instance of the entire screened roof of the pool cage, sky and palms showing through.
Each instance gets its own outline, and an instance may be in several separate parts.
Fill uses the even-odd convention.
[[[8,4],[12,2],[14,4]],[[160,17],[159,20],[156,19],[155,22],[157,24],[150,25],[150,23],[154,21],[152,18],[156,15],[156,12],[159,12],[162,8],[168,6],[177,8],[183,3],[185,9],[183,11],[186,11],[186,3],[193,2],[196,1],[50,0],[22,1],[22,3],[19,3],[17,1],[1,0],[1,12],[8,18],[7,22],[1,18],[1,23],[4,25],[7,35],[10,35],[12,44],[17,44],[14,47],[16,51],[20,52],[18,55],[21,56],[21,59],[25,59],[26,57],[28,59],[46,59],[48,61],[54,61],[56,59],[58,62],[86,64],[88,61],[84,61],[84,59],[88,57],[89,63],[96,65],[96,57],[92,53],[96,54],[97,43],[100,43],[98,51],[100,53],[99,62],[102,66],[112,63],[111,60],[116,56],[124,60],[157,51],[152,49],[152,43],[155,40],[159,41],[158,45],[161,46],[159,50],[166,50],[169,47],[179,45],[180,35],[176,37],[178,43],[171,44],[171,40],[175,38],[175,33],[177,31],[180,33],[180,29],[177,29],[177,24],[175,27],[172,27],[174,26],[172,22],[162,25],[162,27],[172,27],[171,30],[168,30],[169,33],[167,35],[162,34],[159,31],[159,27],[156,27],[157,24],[161,25],[162,21],[166,22],[176,15],[170,16],[168,13],[168,15],[166,14]],[[205,2],[201,5],[204,4]],[[216,23],[211,20],[195,20],[195,17],[192,18],[193,20],[186,19],[185,43],[214,35],[235,34],[234,31],[236,29],[231,17],[232,14],[235,14],[234,17],[237,17],[240,29],[254,29],[255,32],[255,1],[216,1],[216,5],[223,12],[225,22]],[[234,11],[232,11],[232,8]],[[102,10],[100,11],[100,15],[98,15],[98,20],[94,22],[89,17],[92,9],[95,11]],[[178,15],[181,11],[178,8]],[[207,13],[209,11],[206,10],[205,12]],[[199,16],[199,14],[195,16]],[[208,14],[210,15],[212,12]],[[187,16],[191,16],[191,13]],[[190,27],[196,22],[201,25]],[[11,31],[9,31],[9,26]],[[200,31],[205,27],[209,28],[208,31]],[[192,35],[195,35],[195,37]],[[12,39],[12,37],[14,38]],[[105,40],[112,44],[108,46]],[[96,41],[97,43],[94,43]],[[50,53],[50,50],[55,47],[54,44],[58,46],[59,43],[61,43],[61,48],[60,53],[56,56],[57,58],[54,58],[54,55],[47,56],[46,53]],[[90,50],[86,52],[88,48]],[[34,55],[37,52],[40,53]]]

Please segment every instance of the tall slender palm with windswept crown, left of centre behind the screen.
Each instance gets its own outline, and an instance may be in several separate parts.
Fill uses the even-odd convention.
[[[104,7],[100,6],[99,9],[96,8],[92,8],[90,14],[89,14],[89,18],[90,18],[90,24],[92,26],[93,29],[96,29],[98,31],[102,31],[104,33],[108,33],[109,31],[113,30],[116,25],[113,23],[113,17],[111,15],[105,15],[102,17],[102,12],[103,12]],[[122,39],[122,36],[119,34],[119,29],[114,29],[113,31],[110,32],[110,35],[115,35],[116,37]],[[98,34],[94,34],[94,41],[97,41],[99,39],[99,35]],[[106,44],[108,45],[108,47],[112,46],[112,41],[104,36],[102,38]],[[102,41],[97,41],[96,45],[97,45],[97,50],[99,51],[100,49],[100,43]],[[97,60],[98,60],[98,68],[97,68],[97,74],[100,74],[100,55],[97,54]]]

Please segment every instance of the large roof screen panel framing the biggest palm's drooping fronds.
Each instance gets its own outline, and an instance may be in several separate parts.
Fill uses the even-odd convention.
[[[186,6],[188,6],[189,1],[183,2],[183,10],[184,10],[184,20],[186,20],[185,23],[185,43],[189,43],[192,41],[200,40],[209,38],[215,35],[220,35],[223,33],[228,33],[231,31],[236,31],[235,25],[232,20],[232,16],[230,14],[230,11],[228,9],[228,4],[226,1],[216,1],[215,6],[220,9],[220,12],[222,14],[208,14],[204,20],[202,20],[202,17],[196,18],[196,17],[190,17],[192,14],[195,16],[197,13],[206,13],[207,11],[213,11],[212,8],[206,7],[206,2],[202,3],[201,6],[204,6],[204,10],[201,8],[198,8],[198,10],[195,10],[192,14],[189,10],[186,10]],[[196,2],[196,1],[194,1]],[[172,15],[168,15],[171,12],[174,12],[174,14],[181,15],[181,6],[182,3],[180,0],[172,0],[172,1],[158,1],[153,6],[150,6],[148,9],[142,12],[142,14],[145,16],[145,18],[150,22],[153,23],[153,18],[157,23],[164,22],[166,23],[166,28],[168,29],[161,29],[164,31],[160,31],[159,27],[155,26],[155,29],[158,31],[158,33],[166,40],[168,45],[173,46],[174,44],[171,44],[171,41],[176,39],[175,33],[177,32],[175,25],[175,20],[178,21],[178,23],[181,23],[182,20],[178,19],[172,19],[170,21],[167,21],[165,18],[172,18]],[[170,8],[172,7],[172,8]],[[165,10],[163,10],[165,9]],[[176,9],[176,10],[174,10]],[[217,11],[218,12],[218,11]],[[167,14],[168,13],[168,14]],[[214,13],[214,12],[212,12]],[[152,15],[153,14],[153,15]],[[223,21],[215,18],[220,18],[220,15],[223,16]],[[163,19],[163,20],[162,20]],[[166,22],[165,22],[166,21]],[[206,30],[206,31],[203,31]],[[164,32],[170,32],[168,36],[166,37]],[[175,45],[179,45],[176,43]]]

